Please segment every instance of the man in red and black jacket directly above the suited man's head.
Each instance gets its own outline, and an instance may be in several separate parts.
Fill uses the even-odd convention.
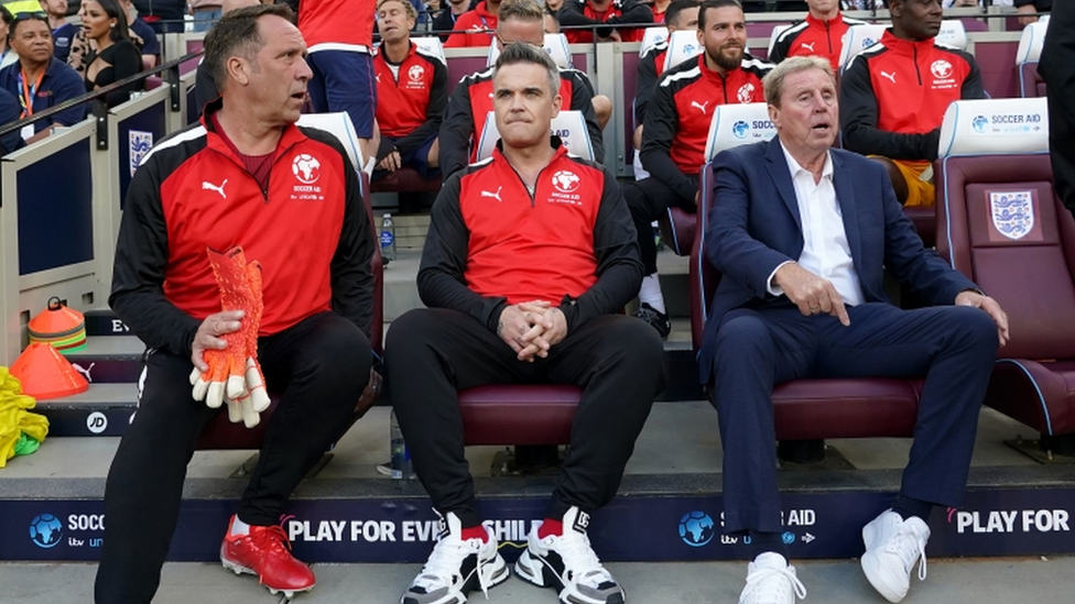
[[[839,55],[844,50],[844,34],[865,21],[845,17],[838,0],[806,0],[810,11],[806,20],[784,30],[773,44],[770,63],[780,63],[790,56],[819,56],[828,59],[833,72],[839,69]]]

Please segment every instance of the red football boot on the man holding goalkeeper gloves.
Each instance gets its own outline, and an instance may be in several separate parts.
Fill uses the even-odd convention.
[[[292,597],[295,592],[314,587],[314,571],[291,554],[291,541],[279,526],[251,526],[250,535],[228,534],[220,543],[220,562],[236,574],[257,574],[261,584],[275,595],[284,592]]]

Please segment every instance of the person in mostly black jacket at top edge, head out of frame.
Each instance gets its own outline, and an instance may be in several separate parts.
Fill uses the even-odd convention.
[[[572,29],[579,25],[601,25],[597,42],[641,42],[642,30],[653,24],[653,11],[639,0],[565,0],[557,19],[572,44],[595,42],[595,30]]]

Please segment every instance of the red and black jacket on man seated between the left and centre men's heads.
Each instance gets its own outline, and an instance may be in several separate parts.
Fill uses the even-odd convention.
[[[373,56],[377,76],[377,123],[381,134],[378,161],[392,151],[406,155],[441,130],[448,103],[448,68],[426,55],[413,42],[406,57],[392,73],[383,53]],[[393,144],[394,141],[394,144]]]

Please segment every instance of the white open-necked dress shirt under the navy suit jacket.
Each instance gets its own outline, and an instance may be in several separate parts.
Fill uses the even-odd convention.
[[[815,184],[814,175],[799,165],[783,142],[780,143],[780,149],[788,160],[791,180],[795,185],[795,199],[799,201],[799,217],[803,223],[803,253],[799,256],[799,265],[830,281],[844,304],[862,304],[862,285],[855,272],[847,233],[844,231],[843,212],[833,187],[833,155],[825,154],[822,178]],[[784,264],[788,263],[780,266]],[[780,296],[783,290],[772,281],[777,271],[769,275],[769,293]]]

